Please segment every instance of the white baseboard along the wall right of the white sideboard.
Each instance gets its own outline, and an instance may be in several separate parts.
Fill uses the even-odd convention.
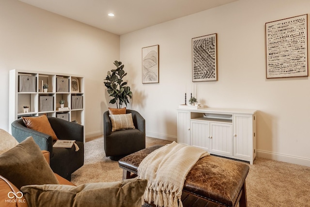
[[[302,157],[297,157],[297,156],[292,156],[292,155],[268,152],[264,150],[256,150],[256,153],[257,153],[257,157],[260,157],[260,158],[273,159],[277,161],[288,162],[288,163],[310,167],[309,158],[302,158]]]

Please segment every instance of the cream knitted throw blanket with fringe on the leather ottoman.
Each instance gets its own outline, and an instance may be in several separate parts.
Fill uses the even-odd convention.
[[[183,207],[181,195],[187,173],[207,151],[173,142],[150,153],[138,167],[138,176],[147,179],[144,200],[159,207]]]

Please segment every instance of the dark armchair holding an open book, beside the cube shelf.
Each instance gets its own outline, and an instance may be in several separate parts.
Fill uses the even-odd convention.
[[[20,143],[32,136],[41,150],[47,150],[50,154],[50,167],[54,173],[71,180],[71,174],[84,164],[84,127],[56,117],[47,117],[56,136],[60,140],[76,140],[79,150],[72,148],[53,148],[52,137],[28,128],[22,119],[12,123],[12,135]]]

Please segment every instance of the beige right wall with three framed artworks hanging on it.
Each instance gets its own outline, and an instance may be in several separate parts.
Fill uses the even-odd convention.
[[[149,136],[175,140],[176,108],[191,93],[191,39],[217,33],[218,81],[197,82],[201,104],[258,110],[258,156],[310,166],[309,78],[266,79],[266,22],[309,13],[309,0],[239,0],[121,36],[131,107]],[[141,48],[159,45],[159,83],[141,83]]]

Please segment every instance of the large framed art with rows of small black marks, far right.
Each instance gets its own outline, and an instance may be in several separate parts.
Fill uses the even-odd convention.
[[[308,76],[308,15],[265,24],[266,78]]]

